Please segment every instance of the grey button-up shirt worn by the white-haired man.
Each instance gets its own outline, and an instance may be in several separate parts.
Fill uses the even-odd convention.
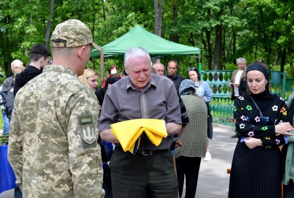
[[[99,131],[110,129],[110,124],[142,118],[140,97],[144,92],[148,118],[182,124],[179,100],[172,80],[151,74],[150,82],[142,91],[133,85],[129,77],[119,80],[107,90],[98,122]],[[141,138],[138,150],[169,149],[171,144],[172,136],[164,138],[158,147]]]

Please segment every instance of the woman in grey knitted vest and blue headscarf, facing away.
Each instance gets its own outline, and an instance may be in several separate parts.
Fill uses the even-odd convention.
[[[189,124],[182,134],[178,134],[183,146],[176,148],[175,162],[180,197],[186,177],[186,198],[195,197],[201,157],[205,157],[207,146],[207,107],[195,92],[192,80],[181,82],[179,93],[187,109]]]

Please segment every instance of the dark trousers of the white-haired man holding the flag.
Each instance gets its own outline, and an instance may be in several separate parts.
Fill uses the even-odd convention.
[[[133,155],[116,147],[111,157],[113,198],[177,198],[178,184],[170,150]]]

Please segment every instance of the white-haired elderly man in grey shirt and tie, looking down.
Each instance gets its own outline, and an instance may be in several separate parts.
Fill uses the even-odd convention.
[[[170,79],[151,74],[146,49],[129,49],[124,66],[128,76],[106,92],[98,124],[101,138],[117,145],[109,163],[113,197],[177,198],[178,184],[169,150],[172,135],[181,128],[175,87]],[[141,118],[165,120],[168,137],[156,147],[143,134],[136,154],[124,152],[110,124]]]

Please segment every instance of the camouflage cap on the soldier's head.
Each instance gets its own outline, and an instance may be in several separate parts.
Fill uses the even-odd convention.
[[[79,20],[70,19],[58,24],[51,36],[51,47],[74,48],[92,44],[94,48],[100,49],[93,42],[90,29]]]

